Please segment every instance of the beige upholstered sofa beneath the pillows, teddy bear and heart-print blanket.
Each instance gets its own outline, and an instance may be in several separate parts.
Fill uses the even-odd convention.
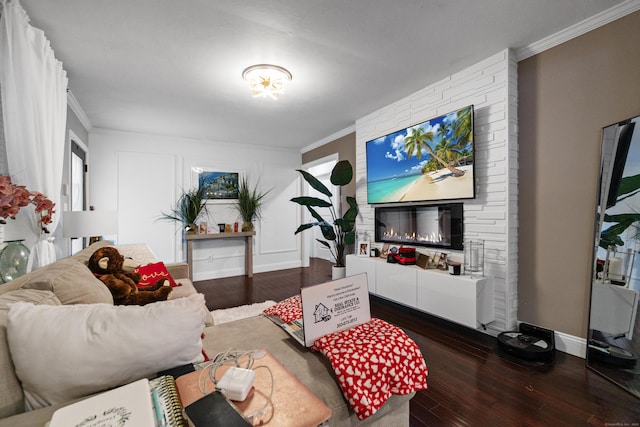
[[[106,287],[93,277],[86,261],[100,246],[110,242],[98,242],[77,255],[62,259],[43,267],[13,282],[0,284],[0,427],[44,426],[53,412],[74,400],[26,411],[23,384],[16,376],[12,351],[7,341],[8,304],[27,301],[43,305],[70,305],[102,303],[113,304]],[[181,286],[174,288],[170,299],[177,299],[196,293],[188,279],[185,263],[170,264],[167,268]],[[86,271],[85,271],[86,269]],[[89,272],[89,274],[86,274]],[[45,280],[46,279],[46,280]],[[109,302],[110,301],[110,302]],[[155,304],[166,304],[159,302]],[[82,306],[77,306],[82,307]],[[408,426],[409,400],[413,395],[392,396],[372,417],[358,420],[349,408],[337,385],[335,374],[329,362],[319,353],[301,349],[281,328],[263,316],[256,316],[222,325],[213,325],[209,312],[204,327],[202,346],[207,354],[215,355],[229,348],[240,350],[267,349],[284,366],[313,391],[333,412],[330,425],[376,425]],[[66,339],[65,331],[59,331],[60,342]],[[163,337],[158,337],[162,345]],[[14,353],[16,353],[14,351]],[[48,355],[39,355],[36,364],[47,366]],[[126,361],[122,361],[126,364]],[[51,369],[54,367],[52,366]],[[81,368],[79,366],[78,368]],[[75,369],[75,367],[74,367]],[[81,369],[78,369],[81,372]],[[143,375],[149,376],[149,375]],[[95,384],[101,389],[101,384]],[[111,385],[112,386],[112,385]],[[108,385],[104,389],[109,388]],[[99,390],[95,390],[98,392]]]

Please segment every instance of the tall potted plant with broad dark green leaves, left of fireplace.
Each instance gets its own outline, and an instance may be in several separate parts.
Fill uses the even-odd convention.
[[[317,220],[316,222],[310,222],[302,224],[296,230],[295,234],[298,234],[309,228],[318,226],[322,231],[322,236],[326,240],[316,239],[320,244],[325,246],[331,252],[335,260],[333,278],[344,277],[345,269],[345,250],[346,245],[352,245],[356,240],[356,217],[358,216],[358,203],[355,197],[347,196],[347,203],[349,209],[342,216],[338,216],[338,210],[333,205],[331,197],[333,194],[329,189],[320,182],[316,177],[309,172],[298,169],[298,172],[302,175],[304,180],[316,191],[320,192],[325,199],[317,197],[294,197],[292,202],[301,206],[305,206],[311,215]],[[333,167],[331,171],[330,181],[333,185],[343,187],[351,182],[353,178],[353,168],[348,160],[341,160]],[[316,208],[326,208],[331,215],[331,222],[325,220]]]

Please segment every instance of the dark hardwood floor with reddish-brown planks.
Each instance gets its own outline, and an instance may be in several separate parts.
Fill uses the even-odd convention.
[[[302,286],[331,279],[330,264],[196,282],[209,309],[280,301]],[[640,399],[557,352],[550,366],[500,357],[496,340],[383,299],[371,297],[375,317],[393,323],[420,346],[428,390],[411,400],[411,426],[639,426]]]

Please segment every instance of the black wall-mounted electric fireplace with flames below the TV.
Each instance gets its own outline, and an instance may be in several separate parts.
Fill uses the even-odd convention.
[[[376,242],[463,249],[462,203],[375,208]]]

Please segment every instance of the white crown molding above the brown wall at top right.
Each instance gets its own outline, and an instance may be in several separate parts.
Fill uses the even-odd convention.
[[[588,33],[589,31],[602,27],[603,25],[613,22],[616,19],[620,19],[623,16],[629,15],[630,13],[633,13],[637,10],[640,10],[640,0],[626,0],[610,9],[607,9],[597,15],[585,19],[582,22],[578,22],[571,27],[565,28],[564,30],[558,31],[557,33],[552,34],[549,37],[545,37],[542,40],[532,43],[529,46],[516,49],[516,61],[519,62],[524,59],[530,58],[534,55],[544,52],[547,49],[551,49],[552,47],[556,47],[559,44]]]

